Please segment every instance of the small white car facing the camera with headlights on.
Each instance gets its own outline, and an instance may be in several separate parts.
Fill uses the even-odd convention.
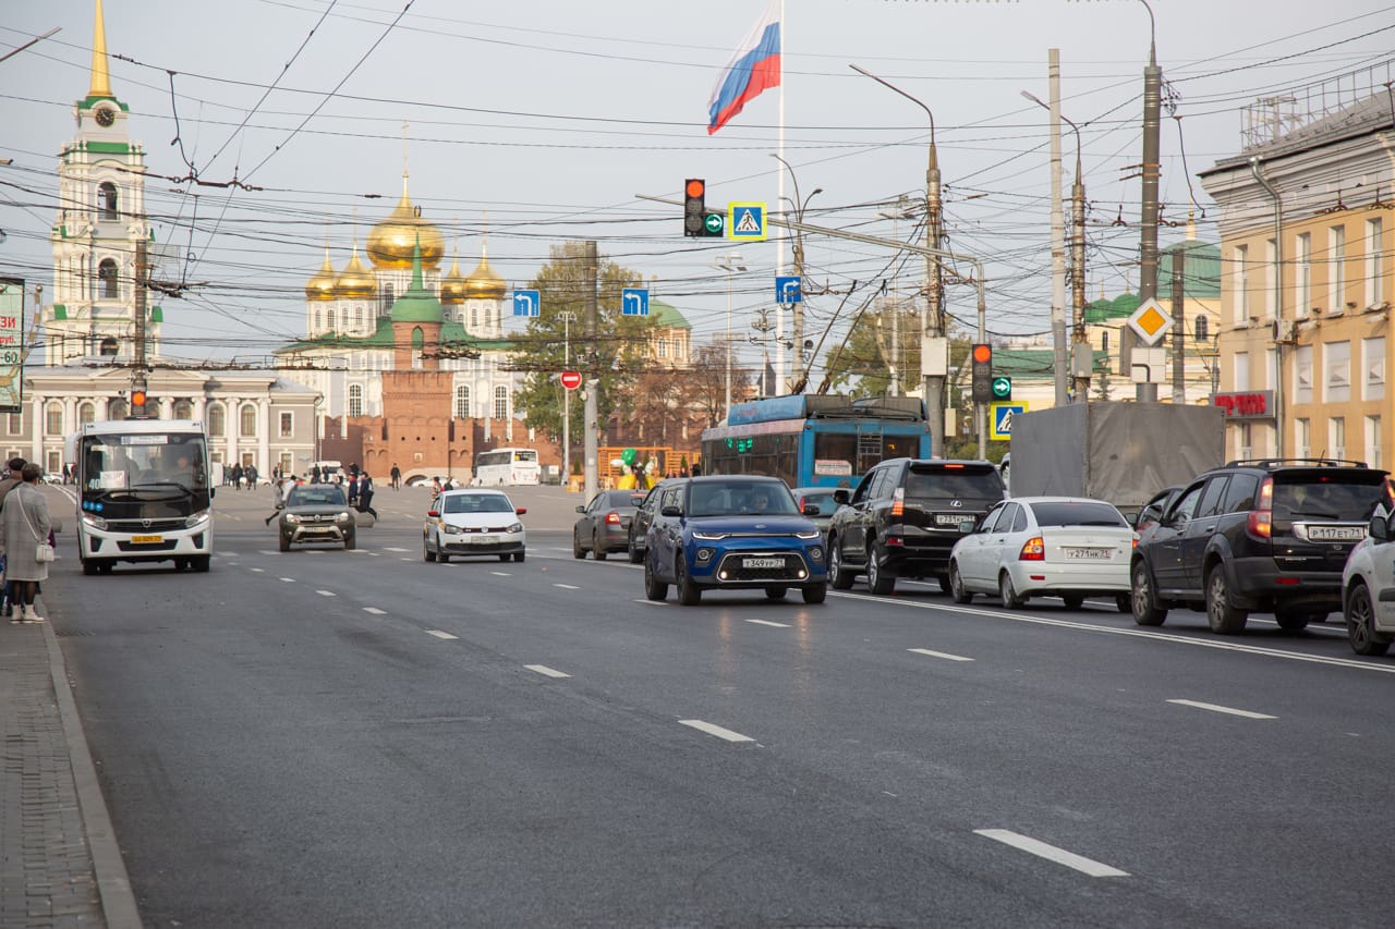
[[[421,526],[421,558],[439,564],[467,555],[523,561],[527,533],[519,516],[526,513],[527,508],[515,506],[504,491],[441,491]]]

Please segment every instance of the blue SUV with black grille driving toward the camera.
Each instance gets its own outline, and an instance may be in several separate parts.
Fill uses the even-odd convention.
[[[774,477],[703,476],[665,481],[644,537],[644,596],[678,587],[685,607],[704,589],[764,590],[780,600],[798,587],[805,603],[829,591],[823,533]]]

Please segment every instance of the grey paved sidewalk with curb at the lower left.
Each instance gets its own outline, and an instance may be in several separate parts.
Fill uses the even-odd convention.
[[[140,929],[52,621],[0,619],[0,926]]]

